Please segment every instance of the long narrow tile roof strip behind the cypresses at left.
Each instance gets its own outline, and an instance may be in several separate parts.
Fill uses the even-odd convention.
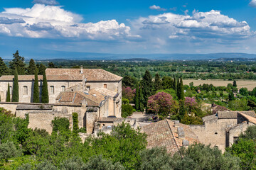
[[[83,75],[46,75],[46,79],[48,81],[65,81],[65,80],[73,80],[73,81],[82,81]],[[34,75],[18,75],[18,81],[32,81],[35,78]],[[43,79],[42,75],[38,75],[38,80]],[[8,76],[2,76],[0,77],[0,81],[13,81],[14,76],[8,75]]]

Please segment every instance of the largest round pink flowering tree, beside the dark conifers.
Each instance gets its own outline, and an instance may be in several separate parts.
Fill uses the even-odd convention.
[[[174,101],[170,94],[164,92],[150,96],[147,106],[149,111],[161,115],[163,118],[173,115],[178,111],[178,103]]]

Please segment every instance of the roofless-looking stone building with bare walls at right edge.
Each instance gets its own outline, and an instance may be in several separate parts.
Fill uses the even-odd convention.
[[[223,152],[248,126],[256,125],[254,111],[218,111],[202,119],[203,125],[190,125],[191,129],[201,143],[218,147]]]

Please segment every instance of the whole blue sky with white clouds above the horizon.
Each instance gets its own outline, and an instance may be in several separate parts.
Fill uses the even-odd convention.
[[[256,0],[9,0],[0,57],[63,52],[256,53]]]

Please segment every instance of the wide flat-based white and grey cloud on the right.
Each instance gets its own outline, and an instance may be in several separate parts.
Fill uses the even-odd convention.
[[[147,35],[162,39],[183,39],[204,41],[209,39],[220,42],[247,39],[255,35],[245,21],[237,21],[220,11],[199,12],[192,15],[163,13],[157,16],[140,17],[132,26],[143,38]],[[156,37],[152,38],[155,39]]]

